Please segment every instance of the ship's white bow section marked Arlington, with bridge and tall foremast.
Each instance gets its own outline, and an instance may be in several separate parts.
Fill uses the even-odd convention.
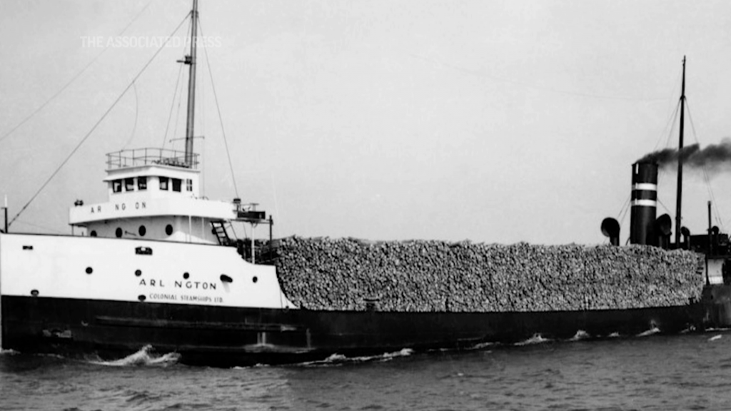
[[[239,199],[201,195],[193,151],[197,1],[191,12],[185,151],[107,154],[108,200],[69,211],[77,235],[0,233],[0,295],[262,309],[296,308],[276,269],[244,259],[233,222],[272,224]],[[253,235],[252,235],[253,237]]]

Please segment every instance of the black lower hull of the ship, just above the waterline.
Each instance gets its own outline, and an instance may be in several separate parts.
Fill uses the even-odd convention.
[[[569,339],[698,326],[700,303],[575,312],[338,312],[3,296],[2,346],[118,359],[151,345],[211,366],[300,363],[403,348],[459,349],[540,334]]]

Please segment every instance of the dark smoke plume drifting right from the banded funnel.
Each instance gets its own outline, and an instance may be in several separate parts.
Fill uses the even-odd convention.
[[[731,170],[731,139],[724,138],[721,143],[700,148],[697,144],[677,148],[665,148],[646,154],[637,162],[656,162],[660,168],[673,169],[683,159],[683,167],[704,169],[708,172]]]

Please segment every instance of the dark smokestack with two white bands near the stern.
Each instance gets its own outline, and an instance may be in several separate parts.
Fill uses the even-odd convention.
[[[632,165],[632,214],[629,219],[629,242],[656,245],[654,235],[657,210],[657,163]]]

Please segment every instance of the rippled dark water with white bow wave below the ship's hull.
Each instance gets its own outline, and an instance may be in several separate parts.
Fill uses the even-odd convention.
[[[0,354],[1,410],[730,410],[731,332],[211,369]]]

